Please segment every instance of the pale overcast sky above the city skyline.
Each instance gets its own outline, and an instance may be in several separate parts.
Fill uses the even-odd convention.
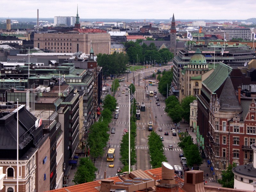
[[[9,19],[76,16],[80,19],[244,20],[256,17],[255,0],[1,0],[0,17]]]

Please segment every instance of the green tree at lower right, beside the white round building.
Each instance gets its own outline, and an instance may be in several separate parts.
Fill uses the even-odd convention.
[[[236,167],[235,163],[229,164],[228,169],[222,171],[222,179],[218,180],[218,183],[221,184],[221,187],[234,188],[234,173],[232,172],[234,167]]]

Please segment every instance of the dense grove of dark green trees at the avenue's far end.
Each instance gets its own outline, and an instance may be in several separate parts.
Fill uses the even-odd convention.
[[[148,38],[147,40],[152,41],[154,39]],[[141,43],[142,39],[138,39],[136,42],[125,42],[124,52],[126,54],[118,52],[111,55],[98,54],[97,63],[102,67],[104,78],[125,73],[128,64],[154,65],[161,63],[166,65],[168,61],[173,59],[173,53],[167,48],[158,51],[154,43],[149,46],[145,43],[140,45]]]

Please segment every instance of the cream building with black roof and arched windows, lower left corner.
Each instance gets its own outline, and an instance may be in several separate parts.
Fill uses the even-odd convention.
[[[36,186],[40,189],[39,191],[44,191],[47,188],[43,185],[48,186],[49,189],[50,162],[45,161],[45,156],[50,155],[49,137],[43,134],[44,125],[25,109],[25,105],[20,105],[17,109],[3,110],[0,120],[0,165],[6,174],[3,190],[17,191],[17,176],[19,177],[19,191],[33,192],[37,189]],[[17,126],[19,128],[19,175],[17,171]],[[42,151],[42,154],[37,154],[38,150]],[[38,165],[41,168],[41,174],[38,177],[36,177],[36,157],[40,158],[38,161],[41,162]]]

